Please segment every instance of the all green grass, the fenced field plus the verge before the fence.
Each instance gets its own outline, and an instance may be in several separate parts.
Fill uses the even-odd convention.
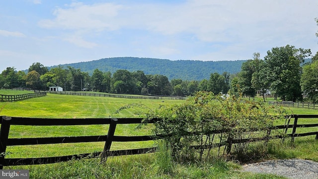
[[[9,91],[9,90],[5,90]],[[17,94],[18,91],[10,91]],[[21,92],[21,91],[19,91]],[[26,91],[24,91],[26,92]],[[2,90],[0,90],[2,93]],[[126,99],[112,97],[72,96],[50,94],[44,97],[30,98],[16,102],[0,102],[0,115],[36,118],[109,118],[109,117],[138,117],[135,112],[143,110],[132,108],[114,112],[121,106],[131,103],[142,103],[149,108],[159,105],[182,103],[184,100],[151,100]],[[318,114],[316,109],[289,108],[293,114]],[[285,121],[277,121],[283,124]],[[292,124],[293,121],[291,121]],[[299,119],[299,123],[317,123],[318,119]],[[136,124],[117,125],[115,135],[148,135],[151,125],[136,128]],[[289,129],[291,130],[291,129]],[[312,129],[300,129],[307,132]],[[316,130],[316,129],[313,129]],[[106,135],[108,125],[90,126],[11,126],[9,138],[22,137],[52,137],[52,136],[85,136]],[[317,130],[318,131],[318,130]],[[111,150],[151,147],[153,141],[148,142],[114,142]],[[30,158],[63,156],[80,153],[102,151],[103,142],[78,144],[52,144],[33,146],[10,146],[7,148],[7,158]],[[279,141],[269,143],[270,159],[300,158],[318,161],[318,142],[315,136],[296,138],[291,144],[287,139],[284,144]],[[241,179],[281,179],[274,175],[242,173],[236,162],[215,160],[212,163],[200,164],[173,164],[169,173],[160,172],[162,164],[158,164],[157,154],[144,154],[135,156],[121,156],[109,158],[106,164],[100,164],[99,159],[73,160],[58,164],[37,166],[11,166],[4,169],[30,170],[30,178],[73,178],[73,179],[106,179],[106,178],[241,178]],[[42,176],[42,177],[41,177]]]

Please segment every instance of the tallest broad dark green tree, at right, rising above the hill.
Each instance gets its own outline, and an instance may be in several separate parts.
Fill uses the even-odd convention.
[[[264,57],[271,89],[282,100],[301,100],[301,68],[304,58],[311,55],[310,49],[296,49],[294,46],[275,47]]]

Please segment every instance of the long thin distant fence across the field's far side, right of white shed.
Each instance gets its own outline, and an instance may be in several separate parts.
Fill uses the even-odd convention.
[[[66,94],[66,95],[82,95],[82,96],[99,96],[99,97],[119,97],[119,98],[130,98],[130,99],[180,99],[180,100],[186,99],[186,97],[133,96],[133,95],[122,95],[122,94],[104,94],[104,93],[72,92],[72,91],[50,91],[50,93]]]

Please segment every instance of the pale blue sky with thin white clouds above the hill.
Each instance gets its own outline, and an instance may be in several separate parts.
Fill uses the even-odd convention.
[[[318,51],[317,0],[1,0],[0,71],[110,57],[229,61]]]

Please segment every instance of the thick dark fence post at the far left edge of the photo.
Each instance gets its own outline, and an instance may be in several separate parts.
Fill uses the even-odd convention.
[[[0,128],[0,170],[4,166],[4,157],[6,150],[6,143],[9,136],[11,117],[2,116],[2,123]]]

